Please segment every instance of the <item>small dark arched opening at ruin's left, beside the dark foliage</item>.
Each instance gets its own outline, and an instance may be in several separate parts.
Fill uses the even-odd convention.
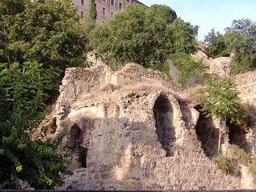
[[[77,124],[70,129],[68,147],[71,149],[71,168],[86,168],[88,148],[83,143],[83,132]]]

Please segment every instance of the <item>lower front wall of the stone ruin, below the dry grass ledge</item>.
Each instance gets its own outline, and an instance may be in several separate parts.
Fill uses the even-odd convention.
[[[118,115],[115,110],[106,115],[107,103],[119,107]],[[155,110],[159,108],[162,114],[166,111],[172,116],[166,129],[173,130],[173,140],[164,147],[156,126]],[[70,108],[66,126],[77,123],[82,130],[87,129],[82,122],[89,117],[94,123],[86,168],[66,176],[62,189],[217,190],[239,186],[238,178],[223,174],[206,158],[195,129],[186,128],[178,99],[170,92],[114,90],[87,101],[78,100]],[[162,136],[165,134],[168,136],[162,132]]]

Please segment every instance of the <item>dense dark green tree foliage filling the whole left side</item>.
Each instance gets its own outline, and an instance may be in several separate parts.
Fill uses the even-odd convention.
[[[85,64],[88,38],[70,2],[0,1],[0,189],[18,179],[50,189],[67,173],[57,140],[31,138],[66,67]]]

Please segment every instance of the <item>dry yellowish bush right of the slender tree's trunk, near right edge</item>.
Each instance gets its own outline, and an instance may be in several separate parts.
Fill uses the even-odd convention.
[[[238,161],[239,163],[243,165],[247,165],[250,162],[250,154],[246,153],[245,150],[240,148],[237,145],[231,146],[232,156],[231,158]]]

